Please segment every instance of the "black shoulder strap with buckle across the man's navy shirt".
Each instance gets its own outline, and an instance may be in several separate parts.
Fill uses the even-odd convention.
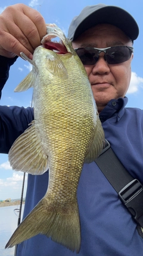
[[[120,200],[135,221],[143,227],[143,187],[123,167],[107,140],[105,140],[105,148],[95,162],[117,191]]]

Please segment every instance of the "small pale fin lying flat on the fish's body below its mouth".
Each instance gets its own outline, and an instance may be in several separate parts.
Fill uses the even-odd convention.
[[[52,52],[52,55],[50,55],[50,53],[46,55],[46,67],[48,71],[54,76],[67,79],[68,73],[63,61],[61,61],[57,54],[54,54],[55,53]]]

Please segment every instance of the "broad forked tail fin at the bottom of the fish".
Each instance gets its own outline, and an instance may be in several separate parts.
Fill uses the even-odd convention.
[[[43,198],[14,231],[5,248],[11,248],[37,234],[45,234],[54,242],[78,253],[80,223],[77,202],[70,207],[54,207]]]

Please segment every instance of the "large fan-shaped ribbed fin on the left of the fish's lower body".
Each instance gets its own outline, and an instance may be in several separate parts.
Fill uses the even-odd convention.
[[[14,141],[8,153],[8,159],[13,170],[38,175],[48,170],[48,156],[43,152],[35,121],[32,121],[31,124]]]

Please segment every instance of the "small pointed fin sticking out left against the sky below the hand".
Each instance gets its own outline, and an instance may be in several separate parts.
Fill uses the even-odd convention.
[[[35,82],[35,76],[34,76],[33,70],[30,71],[29,74],[19,83],[19,85],[14,89],[14,92],[23,92],[29,89],[30,87],[33,87],[33,83]]]

